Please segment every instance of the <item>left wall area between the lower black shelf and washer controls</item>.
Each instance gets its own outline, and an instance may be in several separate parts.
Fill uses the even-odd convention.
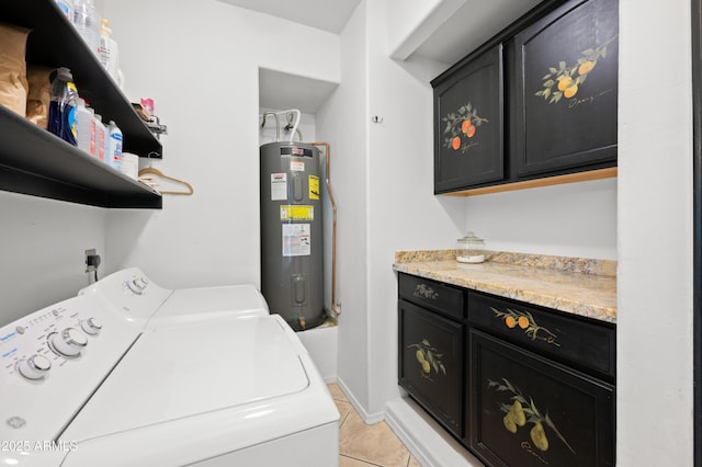
[[[76,296],[87,249],[107,261],[102,208],[0,192],[0,326]]]

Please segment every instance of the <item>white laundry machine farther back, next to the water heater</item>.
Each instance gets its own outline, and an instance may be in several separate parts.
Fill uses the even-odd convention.
[[[155,284],[138,267],[117,271],[79,292],[86,294],[100,295],[147,327],[269,315],[263,295],[251,284],[169,289]]]

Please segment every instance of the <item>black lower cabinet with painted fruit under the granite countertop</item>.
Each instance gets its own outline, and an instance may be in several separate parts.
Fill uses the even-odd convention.
[[[613,466],[615,327],[399,273],[399,385],[488,466]]]

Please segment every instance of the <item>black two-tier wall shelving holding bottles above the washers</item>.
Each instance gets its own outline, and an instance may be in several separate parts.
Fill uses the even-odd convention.
[[[122,129],[125,152],[161,157],[158,138],[53,0],[3,1],[0,22],[31,30],[27,65],[71,69],[80,95]],[[102,207],[161,207],[155,190],[2,106],[0,141],[0,190]]]

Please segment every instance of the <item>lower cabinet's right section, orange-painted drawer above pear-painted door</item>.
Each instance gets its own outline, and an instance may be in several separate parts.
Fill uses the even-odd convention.
[[[614,465],[613,324],[468,293],[467,446],[487,465]]]

